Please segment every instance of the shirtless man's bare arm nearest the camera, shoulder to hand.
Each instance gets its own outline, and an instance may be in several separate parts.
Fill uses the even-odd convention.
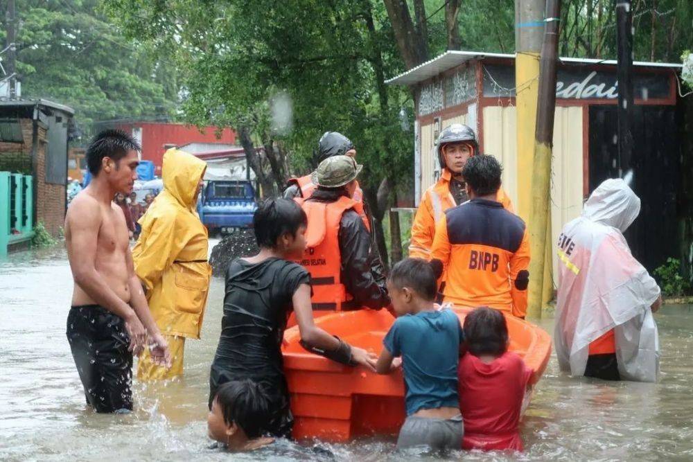
[[[101,226],[101,210],[98,203],[87,197],[76,200],[67,211],[69,226],[69,262],[75,283],[99,305],[125,320],[130,334],[130,349],[143,344],[144,329],[137,314],[109,287],[96,271],[98,230]]]

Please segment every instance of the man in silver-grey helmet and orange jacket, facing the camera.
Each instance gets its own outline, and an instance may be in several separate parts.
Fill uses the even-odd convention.
[[[435,226],[443,217],[444,212],[469,199],[464,187],[464,179],[462,179],[462,168],[467,159],[480,154],[474,130],[459,123],[446,127],[440,133],[437,145],[438,161],[443,172],[437,183],[428,188],[421,197],[421,204],[412,224],[412,239],[409,246],[410,257],[425,260],[430,259]],[[502,188],[498,190],[496,199],[507,210],[513,211],[510,198]]]

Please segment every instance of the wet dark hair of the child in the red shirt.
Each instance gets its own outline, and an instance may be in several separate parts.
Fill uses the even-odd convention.
[[[508,325],[498,310],[476,308],[464,318],[462,330],[467,350],[475,356],[500,356],[508,349]]]

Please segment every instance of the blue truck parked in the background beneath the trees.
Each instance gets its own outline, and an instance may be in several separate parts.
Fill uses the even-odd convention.
[[[210,233],[231,233],[249,228],[257,208],[255,190],[247,180],[208,181],[204,187],[200,218]]]

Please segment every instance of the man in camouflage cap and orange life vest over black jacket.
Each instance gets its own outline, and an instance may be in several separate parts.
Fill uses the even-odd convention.
[[[335,310],[379,310],[390,303],[385,276],[378,271],[380,258],[371,253],[362,202],[353,199],[361,169],[352,157],[329,157],[313,173],[313,194],[305,201],[297,199],[308,215],[301,265],[310,272],[314,316]]]

